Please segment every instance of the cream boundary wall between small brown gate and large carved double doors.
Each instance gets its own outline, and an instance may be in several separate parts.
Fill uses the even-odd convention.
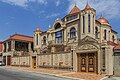
[[[71,58],[72,58],[71,53],[39,55],[38,56],[38,66],[72,67],[72,59]]]

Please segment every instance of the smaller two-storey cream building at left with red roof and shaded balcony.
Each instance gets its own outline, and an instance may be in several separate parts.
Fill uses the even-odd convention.
[[[33,53],[33,37],[14,34],[2,42],[2,59],[6,65],[31,66],[30,54]]]

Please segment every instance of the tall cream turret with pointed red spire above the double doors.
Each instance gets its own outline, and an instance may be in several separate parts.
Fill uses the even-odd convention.
[[[87,3],[81,12],[81,33],[94,37],[96,11]]]

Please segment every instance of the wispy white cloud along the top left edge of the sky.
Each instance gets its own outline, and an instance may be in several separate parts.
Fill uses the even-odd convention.
[[[17,5],[21,7],[26,7],[28,6],[29,2],[36,2],[39,4],[47,4],[47,0],[2,0],[2,2],[9,3],[11,5]]]

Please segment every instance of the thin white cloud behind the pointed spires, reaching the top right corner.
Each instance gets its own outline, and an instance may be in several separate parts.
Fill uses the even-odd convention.
[[[69,0],[69,2],[70,4],[67,12],[69,12],[73,8],[75,2],[81,10],[84,9],[87,4],[87,0]],[[119,16],[119,0],[89,0],[88,3],[96,10],[97,16],[103,14],[103,16],[107,19],[112,19]]]

